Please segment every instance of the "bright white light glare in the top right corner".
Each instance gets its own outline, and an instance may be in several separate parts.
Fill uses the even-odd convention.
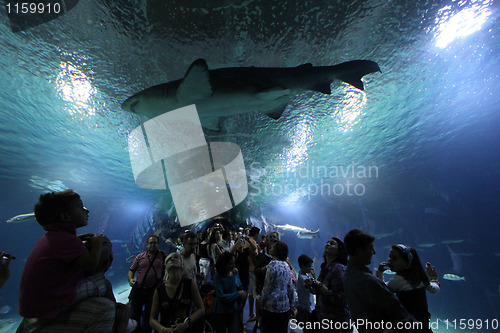
[[[490,2],[491,0],[475,1],[472,6],[451,17],[451,6],[441,8],[436,18],[438,29],[435,34],[435,45],[443,49],[455,39],[479,31],[491,15],[491,11],[488,9]]]

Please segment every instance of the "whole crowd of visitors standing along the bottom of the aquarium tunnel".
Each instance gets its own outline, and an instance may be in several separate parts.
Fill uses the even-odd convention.
[[[317,278],[307,254],[295,272],[276,231],[260,237],[255,226],[236,230],[220,219],[184,232],[170,254],[150,236],[128,271],[129,304],[116,303],[104,277],[110,240],[76,235],[88,213],[72,190],[42,195],[35,205],[47,233],[24,267],[17,332],[191,333],[209,326],[241,333],[252,321],[264,333],[353,332],[354,324],[360,333],[432,332],[426,291],[439,291],[435,267],[424,269],[415,249],[395,244],[372,272],[375,238],[360,229],[326,242]],[[2,283],[9,277],[3,264]],[[385,282],[387,269],[395,275]]]

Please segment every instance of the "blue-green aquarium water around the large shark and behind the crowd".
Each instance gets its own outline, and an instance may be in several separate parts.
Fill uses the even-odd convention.
[[[126,98],[181,78],[197,58],[209,68],[370,59],[382,73],[365,77],[365,93],[334,85],[331,96],[296,96],[278,121],[238,115],[205,133],[244,156],[251,189],[235,224],[319,227],[315,240],[284,233],[294,263],[302,253],[320,261],[329,237],[356,227],[377,236],[373,267],[406,243],[440,276],[465,277],[429,295],[433,319],[500,319],[498,3],[80,2],[19,33],[0,9],[0,221],[73,188],[91,212],[82,232],[123,241],[108,273],[121,283],[147,232],[178,231],[169,191],[134,183],[127,136],[144,119],[121,110]],[[373,173],[333,173],[353,167]],[[357,193],[340,192],[347,181]],[[43,231],[0,230],[0,250],[17,257],[2,323],[18,319],[22,268]]]

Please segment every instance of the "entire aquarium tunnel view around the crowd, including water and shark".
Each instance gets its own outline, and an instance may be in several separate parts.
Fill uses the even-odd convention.
[[[4,1],[0,332],[23,319],[34,206],[68,189],[124,304],[152,235],[168,255],[198,233],[199,260],[224,230],[274,232],[295,279],[301,255],[318,278],[332,237],[361,229],[385,282],[393,245],[435,266],[433,332],[498,330],[499,15],[493,0]]]

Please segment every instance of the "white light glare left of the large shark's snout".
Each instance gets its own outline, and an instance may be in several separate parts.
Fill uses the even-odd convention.
[[[73,108],[69,112],[73,116],[91,117],[95,109],[89,105],[91,97],[96,93],[88,77],[71,63],[61,63],[61,72],[57,76],[57,92]]]

